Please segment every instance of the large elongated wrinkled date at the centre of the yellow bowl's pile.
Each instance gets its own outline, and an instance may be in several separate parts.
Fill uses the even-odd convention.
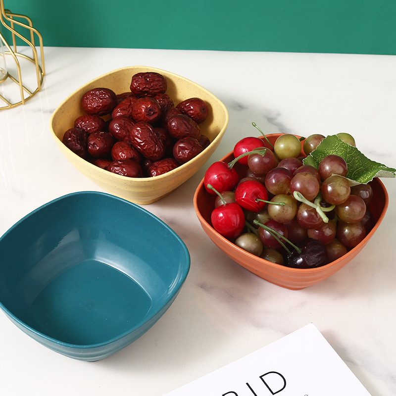
[[[158,161],[165,155],[162,140],[147,122],[137,122],[129,131],[128,141],[151,161]]]

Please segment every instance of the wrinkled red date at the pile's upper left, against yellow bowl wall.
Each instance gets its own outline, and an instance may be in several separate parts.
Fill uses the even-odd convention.
[[[94,88],[81,99],[81,107],[89,115],[110,114],[117,105],[117,96],[108,88]]]

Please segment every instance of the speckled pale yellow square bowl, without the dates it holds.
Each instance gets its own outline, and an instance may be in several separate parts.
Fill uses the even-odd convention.
[[[84,114],[80,101],[85,92],[97,87],[109,88],[116,94],[127,92],[130,90],[132,76],[146,71],[160,73],[166,78],[168,84],[166,93],[175,104],[194,97],[201,98],[207,103],[208,117],[199,124],[202,134],[211,142],[207,148],[189,162],[163,175],[131,178],[108,172],[91,164],[62,143],[63,134],[74,126],[77,117]],[[123,67],[88,82],[59,104],[49,123],[53,139],[72,165],[109,193],[138,204],[148,204],[165,197],[193,176],[216,150],[227,125],[228,111],[225,105],[209,91],[187,78],[148,66]]]

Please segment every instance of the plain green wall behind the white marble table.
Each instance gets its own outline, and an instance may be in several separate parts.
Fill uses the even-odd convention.
[[[396,0],[4,0],[44,46],[396,54]]]

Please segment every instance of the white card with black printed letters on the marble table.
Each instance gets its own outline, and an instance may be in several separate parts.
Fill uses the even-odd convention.
[[[164,396],[370,396],[311,323]]]

